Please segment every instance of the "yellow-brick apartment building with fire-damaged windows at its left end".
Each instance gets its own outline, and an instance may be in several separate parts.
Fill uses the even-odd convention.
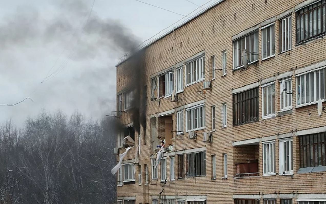
[[[325,204],[325,33],[325,0],[216,3],[142,49],[140,128],[119,63],[117,203]]]

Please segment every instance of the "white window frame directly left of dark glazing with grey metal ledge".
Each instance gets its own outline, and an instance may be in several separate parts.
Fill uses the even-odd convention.
[[[284,149],[284,144],[289,143],[289,155],[287,155],[287,151]],[[292,144],[291,144],[292,143]],[[293,138],[286,138],[279,140],[279,175],[293,173]],[[286,158],[289,157],[289,170],[286,169]],[[283,168],[282,168],[283,167]]]

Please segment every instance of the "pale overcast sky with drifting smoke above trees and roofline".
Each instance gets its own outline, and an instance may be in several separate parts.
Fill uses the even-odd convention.
[[[187,15],[200,10],[194,4],[216,0],[142,1]],[[1,3],[0,104],[15,104],[27,96],[34,102],[0,106],[0,122],[11,118],[21,126],[42,109],[61,109],[68,115],[78,109],[93,119],[111,115],[115,64],[128,49],[119,42],[120,31],[137,44],[183,18],[136,0],[96,0],[89,16],[92,4],[93,0]]]

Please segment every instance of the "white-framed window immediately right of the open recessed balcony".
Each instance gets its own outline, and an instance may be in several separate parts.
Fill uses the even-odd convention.
[[[275,142],[263,143],[264,174],[275,173]]]

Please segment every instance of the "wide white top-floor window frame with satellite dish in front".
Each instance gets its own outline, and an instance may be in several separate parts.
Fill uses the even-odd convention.
[[[248,57],[248,60],[249,60],[249,64],[252,64],[252,63],[255,63],[259,60],[259,57],[258,57],[258,54],[259,54],[259,30],[255,30],[249,34],[246,34],[244,36],[241,36],[239,38],[237,38],[236,40],[233,40],[232,42],[232,45],[233,45],[233,69],[240,69],[242,67],[244,67],[244,64],[242,62],[242,52],[243,50],[241,50],[241,41],[242,39],[244,39],[244,45],[245,45],[245,48],[249,57]],[[252,42],[251,42],[251,35],[253,35],[253,38],[254,38],[254,51],[252,50]],[[249,50],[247,49],[247,37],[249,36]],[[239,53],[240,52],[240,53]],[[239,56],[240,54],[240,56]],[[240,59],[239,59],[240,57]],[[253,61],[251,61],[253,59]],[[240,60],[240,64],[239,64],[239,60]]]

